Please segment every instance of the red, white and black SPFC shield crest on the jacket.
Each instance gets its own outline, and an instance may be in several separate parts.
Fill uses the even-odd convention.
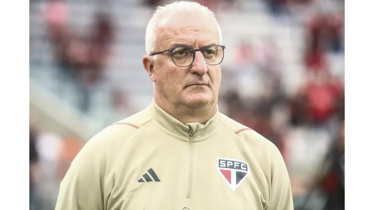
[[[234,159],[217,157],[217,169],[232,191],[235,191],[249,175],[248,164]]]

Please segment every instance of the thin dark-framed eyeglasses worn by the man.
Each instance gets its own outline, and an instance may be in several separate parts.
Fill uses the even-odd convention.
[[[194,63],[196,51],[201,51],[204,56],[205,63],[214,66],[223,61],[224,48],[226,48],[226,46],[218,44],[211,44],[201,49],[194,49],[190,46],[177,46],[158,53],[153,53],[150,56],[155,56],[165,53],[166,51],[170,51],[171,59],[176,66],[188,67]]]

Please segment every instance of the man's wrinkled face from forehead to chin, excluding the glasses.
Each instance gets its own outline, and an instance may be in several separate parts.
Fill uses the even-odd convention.
[[[194,49],[220,44],[217,25],[212,17],[177,14],[164,27],[158,29],[157,51],[185,45]],[[191,66],[178,67],[170,51],[157,55],[154,78],[158,94],[168,102],[186,107],[199,107],[216,103],[221,82],[220,65],[207,65],[203,54],[196,52]]]

